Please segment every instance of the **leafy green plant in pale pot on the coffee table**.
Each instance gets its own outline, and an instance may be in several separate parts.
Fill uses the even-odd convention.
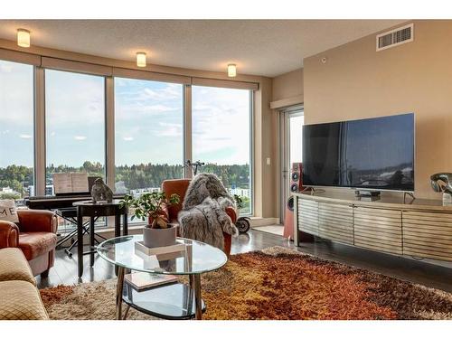
[[[126,195],[121,206],[132,212],[132,220],[139,218],[148,223],[143,230],[143,242],[146,247],[163,247],[174,245],[176,227],[168,222],[166,207],[181,201],[179,195],[172,194],[169,198],[165,193],[144,193],[137,198]]]

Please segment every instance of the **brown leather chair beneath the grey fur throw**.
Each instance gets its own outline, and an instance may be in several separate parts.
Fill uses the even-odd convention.
[[[190,179],[173,179],[165,180],[162,183],[162,192],[165,193],[166,197],[169,198],[171,194],[177,194],[181,197],[181,202],[172,206],[168,206],[168,220],[173,223],[179,223],[177,221],[177,214],[182,210],[182,204],[184,202],[185,193],[187,192],[188,185],[190,184]],[[232,223],[237,221],[237,213],[231,207],[226,208],[226,213],[231,218]],[[229,257],[231,254],[231,234],[224,233],[224,253]]]

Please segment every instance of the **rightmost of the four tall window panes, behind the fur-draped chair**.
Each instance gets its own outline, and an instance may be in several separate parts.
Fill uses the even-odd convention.
[[[193,86],[193,161],[202,172],[217,174],[231,194],[239,195],[242,214],[251,212],[251,98],[247,89]]]

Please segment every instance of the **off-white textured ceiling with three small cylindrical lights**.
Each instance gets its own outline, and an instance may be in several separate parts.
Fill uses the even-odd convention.
[[[17,28],[32,44],[133,61],[268,77],[303,66],[303,58],[405,20],[0,20],[0,38]]]

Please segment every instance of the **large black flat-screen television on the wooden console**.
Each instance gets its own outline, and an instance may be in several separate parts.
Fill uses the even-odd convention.
[[[414,114],[303,127],[303,184],[414,192]]]

